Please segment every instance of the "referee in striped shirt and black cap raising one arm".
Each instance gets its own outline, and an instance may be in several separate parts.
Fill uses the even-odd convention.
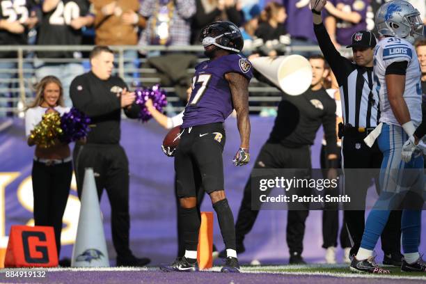
[[[350,256],[356,255],[361,244],[365,220],[365,196],[371,180],[378,183],[378,175],[359,169],[381,167],[381,154],[377,143],[372,148],[365,145],[363,139],[377,126],[380,118],[379,97],[373,88],[373,52],[376,38],[370,31],[358,31],[352,36],[352,52],[354,62],[340,56],[336,50],[324,24],[321,10],[326,0],[311,0],[313,7],[313,23],[318,45],[336,75],[340,88],[343,124],[339,127],[342,138],[342,168],[345,171],[345,194],[351,197],[351,204],[345,206],[345,221],[353,245]],[[378,171],[371,171],[376,172]],[[370,171],[368,171],[370,173]],[[378,188],[378,187],[377,187]],[[381,248],[384,251],[384,265],[400,267],[402,254],[400,252],[401,212],[393,211],[381,235]]]

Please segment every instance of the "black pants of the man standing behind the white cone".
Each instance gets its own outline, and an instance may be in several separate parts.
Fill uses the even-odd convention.
[[[81,198],[85,168],[93,168],[97,196],[107,190],[111,204],[111,231],[113,244],[120,258],[132,255],[129,248],[129,161],[118,144],[86,144],[74,148],[77,192]]]

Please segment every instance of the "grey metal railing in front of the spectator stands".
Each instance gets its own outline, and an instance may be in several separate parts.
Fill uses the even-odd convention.
[[[36,52],[90,52],[93,46],[90,45],[15,45],[15,46],[0,46],[0,52],[16,52],[16,58],[0,58],[1,62],[15,63],[15,68],[9,68],[6,70],[0,69],[0,84],[8,84],[7,88],[0,88],[0,113],[8,111],[11,113],[22,112],[22,106],[28,104],[34,95],[34,86],[37,83],[35,76],[35,64],[38,58],[36,58]],[[126,64],[133,59],[125,58],[125,51],[136,50],[143,54],[149,54],[150,52],[185,52],[196,54],[199,61],[205,60],[203,58],[203,47],[198,45],[190,46],[139,46],[139,45],[116,45],[111,46],[114,52],[116,52],[116,70],[120,77],[122,77],[127,84],[132,84],[134,81],[138,81],[144,86],[152,86],[153,84],[160,83],[160,78],[157,75],[155,68],[143,68],[143,63],[146,63],[147,58],[139,58],[139,68],[126,68]],[[296,46],[287,47],[287,54],[292,52],[320,52],[319,47],[312,46]],[[81,63],[85,65],[86,71],[88,70],[88,58],[42,58],[45,63]],[[194,69],[188,69],[189,74],[194,73]],[[12,73],[14,77],[11,79],[1,79],[2,73]],[[139,77],[129,77],[128,74],[139,74]],[[59,78],[61,79],[61,78]],[[173,87],[164,88],[168,94],[168,102],[172,105],[169,110],[180,111],[182,106],[173,104],[178,102],[180,99],[174,94],[175,89]],[[276,102],[281,100],[280,92],[276,88],[272,88],[259,81],[252,79],[249,86],[250,91],[250,109],[251,111],[260,111],[265,107],[275,107]],[[267,95],[264,95],[267,93]],[[11,107],[3,107],[4,102],[11,103]]]

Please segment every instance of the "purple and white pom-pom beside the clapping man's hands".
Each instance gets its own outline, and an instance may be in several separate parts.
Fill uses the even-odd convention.
[[[143,123],[146,123],[152,118],[151,113],[145,107],[145,102],[149,99],[152,100],[152,104],[157,111],[162,112],[163,108],[167,105],[166,91],[162,90],[159,85],[154,85],[152,88],[139,88],[134,92],[136,94],[136,104],[141,107],[139,118]]]

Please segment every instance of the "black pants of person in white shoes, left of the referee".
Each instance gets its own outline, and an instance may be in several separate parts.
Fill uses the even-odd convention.
[[[340,148],[339,148],[340,150]],[[321,147],[321,157],[319,159],[321,168],[322,168],[322,175],[324,178],[327,177],[327,170],[326,170],[326,150],[325,146],[322,145]],[[338,159],[341,161],[340,157],[340,151],[338,154]],[[325,190],[325,194],[330,195],[336,195],[333,194],[334,191]],[[338,237],[338,230],[339,230],[339,211],[338,211],[338,205],[329,205],[330,203],[326,203],[328,207],[324,208],[324,211],[322,212],[322,240],[323,248],[328,248],[330,246],[337,246],[337,237]],[[331,203],[334,204],[334,203]],[[343,217],[343,223],[342,228],[340,229],[340,246],[342,248],[350,248],[351,247],[351,241],[349,239],[349,235],[347,233],[346,229],[346,222],[345,217]]]

